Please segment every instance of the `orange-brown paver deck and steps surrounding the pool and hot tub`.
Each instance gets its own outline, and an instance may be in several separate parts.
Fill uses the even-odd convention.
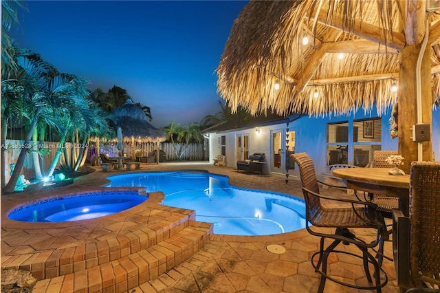
[[[300,182],[292,175],[286,183],[284,175],[237,173],[227,166],[199,162],[142,164],[140,172],[183,169],[207,170],[228,175],[230,184],[236,186],[302,197]],[[43,191],[3,196],[2,268],[34,266],[40,280],[34,287],[36,293],[316,292],[318,289],[319,275],[309,261],[318,250],[318,237],[304,229],[259,237],[215,235],[210,224],[194,221],[192,211],[159,204],[162,193],[152,193],[144,204],[114,217],[82,221],[80,225],[56,223],[47,228],[5,217],[5,211],[16,202],[55,192],[96,190],[107,182],[105,177],[126,172],[102,172],[96,168],[96,172],[78,177],[74,184],[50,191],[51,194]],[[332,189],[322,192],[349,196]],[[266,249],[269,244],[281,245],[286,252],[269,252]],[[386,243],[385,251],[391,255],[391,243]],[[388,284],[382,292],[397,292],[393,263],[385,260],[383,268]],[[357,259],[333,257],[329,271],[345,281],[365,283],[362,263]],[[358,292],[327,281],[325,292],[336,291]]]

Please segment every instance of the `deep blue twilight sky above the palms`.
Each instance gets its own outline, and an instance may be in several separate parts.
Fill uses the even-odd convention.
[[[26,1],[10,35],[89,87],[126,89],[155,127],[220,111],[217,74],[248,1]],[[223,100],[222,100],[223,102]]]

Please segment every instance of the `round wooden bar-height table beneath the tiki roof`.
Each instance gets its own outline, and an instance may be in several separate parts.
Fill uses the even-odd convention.
[[[409,215],[410,175],[390,175],[389,168],[333,170],[333,176],[347,181],[347,188],[399,198],[399,209]]]

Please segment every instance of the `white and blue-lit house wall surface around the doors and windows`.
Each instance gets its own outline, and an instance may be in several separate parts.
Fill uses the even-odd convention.
[[[371,113],[375,113],[375,109]],[[398,138],[392,139],[389,134],[388,120],[391,117],[391,110],[386,115],[382,116],[382,150],[398,149]],[[377,116],[370,116],[358,111],[355,115],[340,116],[340,117],[303,117],[294,122],[289,123],[289,131],[296,132],[295,152],[306,152],[314,160],[316,173],[320,174],[327,171],[327,123],[341,122],[353,120],[360,120],[364,118],[377,118]],[[265,162],[267,162],[266,172],[269,172],[271,160],[271,137],[270,131],[274,129],[286,129],[285,123],[274,124],[270,126],[258,127],[259,133],[256,133],[256,127],[249,129],[241,129],[238,131],[225,131],[222,133],[210,133],[210,162],[213,158],[221,154],[221,145],[219,144],[222,135],[226,137],[226,166],[232,168],[236,167],[235,155],[235,137],[242,133],[249,133],[249,153],[265,153]],[[353,151],[353,150],[350,150]],[[440,109],[432,111],[432,151],[436,155],[436,160],[440,160]],[[349,153],[349,158],[353,155]],[[353,164],[353,162],[348,162]],[[289,174],[298,176],[298,170],[290,170]]]

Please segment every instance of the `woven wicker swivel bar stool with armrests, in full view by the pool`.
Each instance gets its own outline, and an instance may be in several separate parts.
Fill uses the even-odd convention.
[[[380,241],[383,241],[384,237],[388,237],[388,234],[386,233],[384,219],[376,210],[376,205],[371,202],[320,195],[314,162],[309,155],[307,155],[307,153],[296,153],[291,155],[291,158],[295,160],[300,170],[300,179],[306,206],[306,229],[311,235],[321,237],[319,251],[311,256],[311,265],[314,267],[315,271],[321,275],[318,292],[324,290],[325,281],[327,279],[356,289],[371,289],[381,292],[381,288],[386,285],[388,277],[384,270],[380,268],[375,257],[369,252],[369,249],[378,246]],[[323,206],[321,203],[322,199],[329,201],[328,203],[331,202],[336,204],[336,207],[329,208]],[[311,225],[329,229],[328,232],[320,232],[323,230],[311,228]],[[373,241],[360,239],[349,230],[349,228],[371,228],[371,230],[375,230],[375,239]],[[333,242],[326,248],[324,247],[325,239],[333,239]],[[348,250],[336,250],[340,243],[344,245],[352,243],[359,248],[362,255],[354,254]],[[343,281],[327,274],[327,259],[330,253],[350,254],[353,257],[359,257],[362,259],[366,279],[369,281],[369,285],[364,286],[356,285],[355,283],[344,283]],[[316,255],[319,256],[317,263],[314,261]],[[371,278],[369,263],[371,263],[374,268],[374,283]],[[380,276],[381,272],[384,276],[382,282]]]

